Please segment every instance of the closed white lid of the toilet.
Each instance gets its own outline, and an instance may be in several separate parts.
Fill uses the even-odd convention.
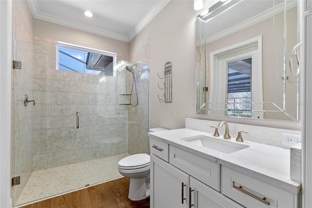
[[[134,154],[128,157],[121,159],[118,162],[118,166],[121,167],[136,167],[136,166],[143,166],[149,164],[151,162],[151,158],[148,154]]]

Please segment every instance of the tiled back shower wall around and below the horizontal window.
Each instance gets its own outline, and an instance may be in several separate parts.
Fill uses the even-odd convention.
[[[126,153],[117,78],[56,70],[56,42],[34,40],[33,170]],[[79,112],[79,128],[77,115]]]

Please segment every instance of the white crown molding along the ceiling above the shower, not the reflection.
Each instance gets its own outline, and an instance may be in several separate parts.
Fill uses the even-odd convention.
[[[75,28],[78,30],[94,33],[107,38],[116,39],[118,41],[130,42],[159,12],[162,10],[170,0],[161,0],[148,12],[147,16],[144,17],[137,26],[128,34],[128,36],[119,35],[106,30],[102,30],[89,25],[81,24],[74,21],[68,21],[53,15],[48,15],[39,11],[37,0],[27,0],[30,7],[31,13],[35,19],[49,21],[52,23],[60,24],[63,26]]]

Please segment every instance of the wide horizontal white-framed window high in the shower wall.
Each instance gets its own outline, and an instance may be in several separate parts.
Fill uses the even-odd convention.
[[[57,54],[59,70],[116,76],[116,53],[58,42]]]

